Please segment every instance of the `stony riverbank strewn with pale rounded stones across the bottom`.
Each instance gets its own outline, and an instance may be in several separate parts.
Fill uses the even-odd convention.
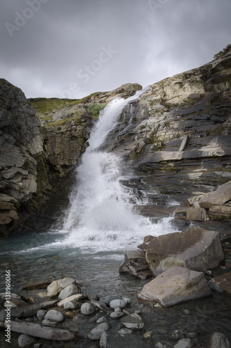
[[[22,295],[12,293],[10,301],[0,294],[0,328],[7,329],[10,316],[12,347],[230,347],[224,334],[230,317],[221,292],[207,294],[203,310],[195,300],[166,310],[116,292],[87,295],[81,287],[74,278],[60,278],[24,285]]]

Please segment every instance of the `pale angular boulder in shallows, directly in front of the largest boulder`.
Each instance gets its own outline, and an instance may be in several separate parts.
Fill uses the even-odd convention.
[[[167,307],[210,294],[203,272],[176,266],[144,285],[138,297]]]

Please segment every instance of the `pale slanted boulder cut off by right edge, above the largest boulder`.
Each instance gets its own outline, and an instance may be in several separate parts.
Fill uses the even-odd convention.
[[[200,202],[200,207],[210,208],[217,203],[226,203],[231,200],[231,181],[221,185],[216,191],[209,193]]]

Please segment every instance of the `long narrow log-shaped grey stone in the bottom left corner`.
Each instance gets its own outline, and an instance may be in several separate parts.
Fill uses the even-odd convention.
[[[44,338],[46,340],[73,340],[74,333],[71,333],[67,329],[50,328],[41,326],[40,324],[14,321],[10,323],[10,329],[18,333],[24,333],[37,338]]]

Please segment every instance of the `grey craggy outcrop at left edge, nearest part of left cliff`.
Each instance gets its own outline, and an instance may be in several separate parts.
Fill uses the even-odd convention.
[[[22,90],[3,79],[0,88],[0,226],[5,230],[37,191],[37,157],[43,148],[40,122]]]

